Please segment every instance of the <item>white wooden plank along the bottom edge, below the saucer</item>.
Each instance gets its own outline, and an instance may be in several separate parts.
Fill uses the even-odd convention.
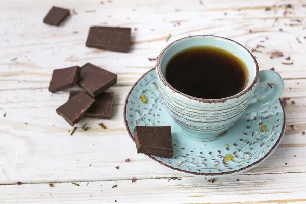
[[[5,203],[305,203],[306,173],[0,185]],[[239,181],[237,181],[237,179]],[[113,187],[117,185],[117,187]],[[141,193],[139,193],[141,192]]]

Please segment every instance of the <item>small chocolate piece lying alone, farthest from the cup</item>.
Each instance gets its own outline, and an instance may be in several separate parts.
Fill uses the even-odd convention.
[[[63,9],[60,7],[52,7],[43,22],[49,25],[59,25],[68,15],[70,14],[69,9]]]

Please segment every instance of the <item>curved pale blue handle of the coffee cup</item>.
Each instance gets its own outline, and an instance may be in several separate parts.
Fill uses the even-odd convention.
[[[256,89],[263,85],[272,83],[273,88],[270,91],[260,95],[256,100],[252,100],[246,109],[246,113],[257,111],[274,103],[284,92],[284,81],[277,72],[272,70],[263,70],[259,72],[259,83]]]

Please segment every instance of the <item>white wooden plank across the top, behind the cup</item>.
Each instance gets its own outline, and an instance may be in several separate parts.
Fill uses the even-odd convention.
[[[305,8],[299,1],[291,1],[294,10],[287,9],[288,14],[284,16],[285,6],[276,4],[281,7],[271,7],[274,2],[264,0],[243,3],[235,0],[226,1],[226,4],[208,1],[204,5],[199,1],[179,4],[173,0],[149,3],[139,0],[129,3],[105,1],[104,4],[90,0],[86,5],[81,0],[54,0],[52,4],[34,0],[2,2],[0,27],[6,29],[0,33],[3,39],[0,42],[0,89],[46,88],[53,69],[82,66],[87,62],[117,73],[118,84],[132,85],[155,65],[148,57],[158,56],[174,40],[203,34],[229,37],[248,49],[258,44],[264,45],[265,48],[259,48],[262,53],[254,53],[261,69],[275,67],[284,78],[305,78]],[[28,8],[28,5],[31,7]],[[59,28],[50,27],[42,23],[42,18],[52,5],[73,8],[78,14],[72,15]],[[221,5],[226,7],[222,8]],[[28,9],[24,10],[25,7]],[[271,7],[271,11],[265,11],[266,7]],[[95,12],[86,12],[88,10]],[[276,18],[278,20],[275,22]],[[296,19],[301,22],[291,21]],[[105,23],[133,29],[134,44],[130,53],[104,52],[85,47],[89,27]],[[169,34],[171,38],[166,42]],[[266,37],[269,39],[266,40]],[[260,42],[262,40],[264,42]],[[282,51],[284,57],[270,59],[273,50]],[[293,65],[282,64],[287,56],[291,57]]]

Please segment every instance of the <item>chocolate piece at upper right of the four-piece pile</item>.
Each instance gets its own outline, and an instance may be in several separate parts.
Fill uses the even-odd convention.
[[[117,75],[90,63],[81,67],[79,85],[84,88],[90,96],[96,97],[105,89],[117,83]]]

